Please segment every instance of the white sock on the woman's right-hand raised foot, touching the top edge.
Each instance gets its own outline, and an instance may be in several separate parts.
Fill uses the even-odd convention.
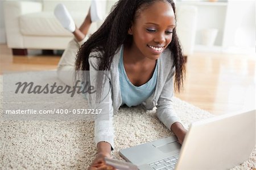
[[[102,20],[105,15],[106,1],[92,0],[90,4],[90,19],[92,22]]]

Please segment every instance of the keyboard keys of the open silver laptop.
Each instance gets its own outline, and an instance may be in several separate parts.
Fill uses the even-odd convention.
[[[175,169],[175,164],[177,163],[178,158],[179,158],[179,154],[167,157],[162,160],[155,161],[154,163],[151,163],[149,165],[155,170]]]

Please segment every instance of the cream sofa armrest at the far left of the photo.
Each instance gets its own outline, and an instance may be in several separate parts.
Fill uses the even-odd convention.
[[[24,48],[23,36],[20,33],[19,17],[23,14],[42,11],[42,3],[28,1],[5,1],[3,13],[7,45],[9,48]]]

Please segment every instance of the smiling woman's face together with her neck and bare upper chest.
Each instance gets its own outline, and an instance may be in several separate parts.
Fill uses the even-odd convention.
[[[131,44],[125,44],[123,61],[129,80],[136,86],[145,84],[153,76],[156,60],[172,40],[175,14],[166,2],[144,5],[135,14],[128,30],[133,36]]]

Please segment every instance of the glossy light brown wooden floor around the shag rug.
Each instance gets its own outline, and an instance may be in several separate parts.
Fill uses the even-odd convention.
[[[255,55],[194,53],[188,57],[184,91],[175,94],[219,115],[255,109]],[[56,69],[60,56],[15,56],[0,44],[0,74]]]

